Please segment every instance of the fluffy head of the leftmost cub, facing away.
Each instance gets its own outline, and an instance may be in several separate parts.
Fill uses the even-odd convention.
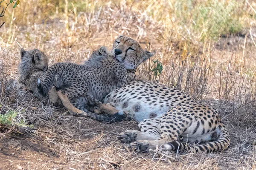
[[[30,51],[25,51],[23,48],[20,50],[21,62],[20,66],[22,67],[35,67],[42,71],[47,71],[48,69],[48,59],[44,52],[39,51],[38,49],[33,49]]]

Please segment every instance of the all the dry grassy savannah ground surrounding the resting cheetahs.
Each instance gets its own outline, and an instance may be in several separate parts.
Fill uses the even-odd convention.
[[[3,21],[1,170],[256,169],[255,1],[26,0],[9,6]],[[129,151],[116,136],[136,122],[70,116],[16,87],[21,47],[43,50],[51,64],[82,63],[102,45],[111,49],[120,34],[156,53],[137,74],[218,108],[231,136],[227,150]]]

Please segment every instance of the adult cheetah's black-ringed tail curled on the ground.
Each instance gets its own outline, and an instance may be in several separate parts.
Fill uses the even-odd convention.
[[[222,151],[222,150],[225,150],[230,145],[230,136],[224,125],[221,127],[221,131],[222,131],[222,136],[217,141],[208,142],[206,144],[201,144],[201,145],[192,147],[192,146],[188,146],[186,143],[181,143],[175,140],[173,142],[168,142],[164,144],[163,147],[167,150],[174,150],[174,151],[177,151],[177,150],[187,150],[190,152],[206,151],[206,153]]]

